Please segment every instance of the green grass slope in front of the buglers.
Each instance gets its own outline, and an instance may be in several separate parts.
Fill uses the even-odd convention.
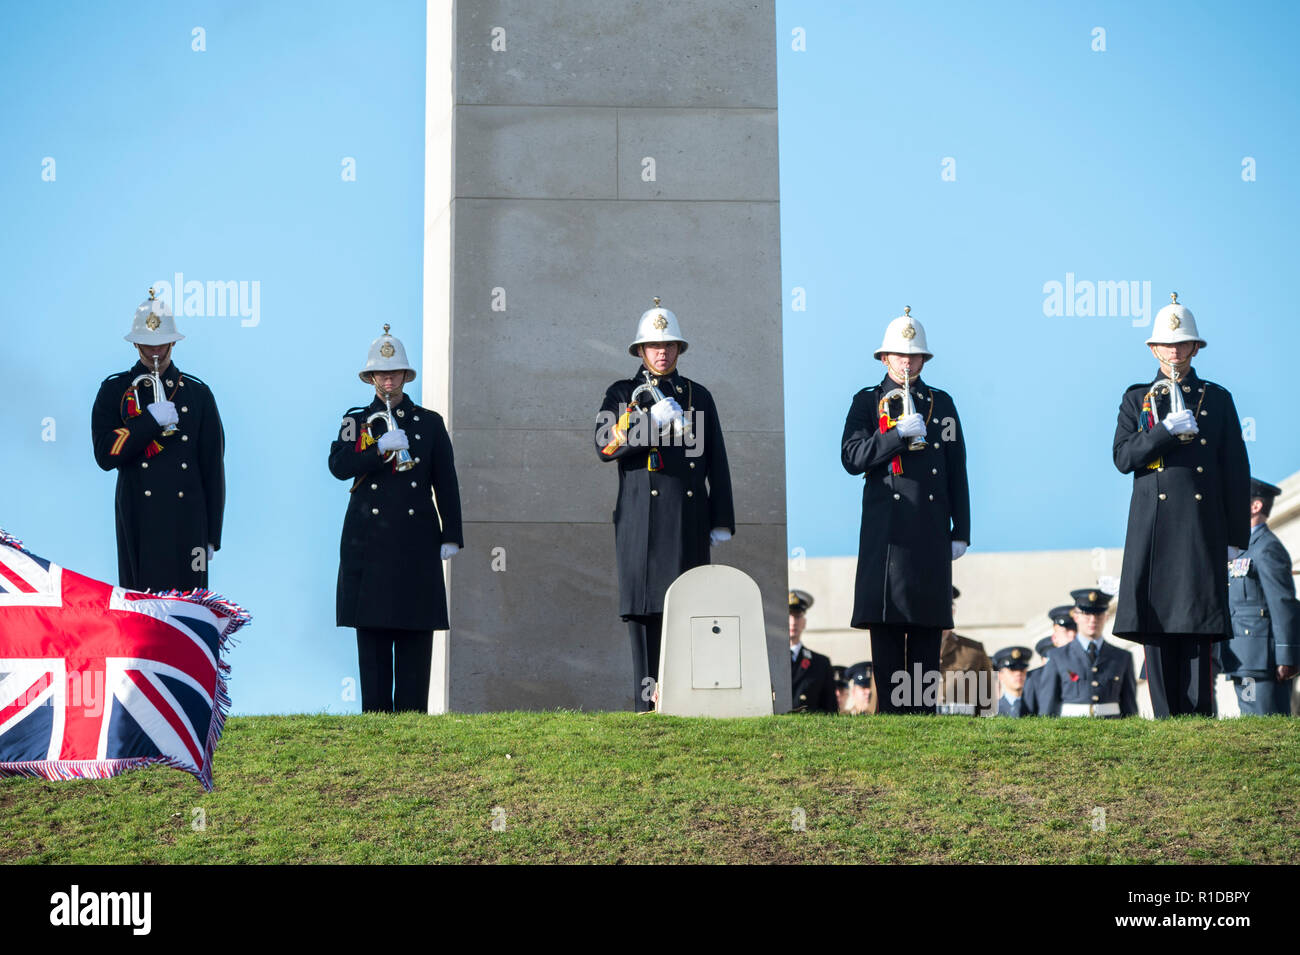
[[[0,780],[0,861],[1295,864],[1297,728],[240,717],[217,748],[212,794],[159,768]],[[203,830],[191,826],[199,808]]]

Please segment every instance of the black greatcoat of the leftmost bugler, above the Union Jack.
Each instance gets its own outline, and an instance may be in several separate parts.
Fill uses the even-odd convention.
[[[148,385],[140,385],[140,413],[129,414],[131,382],[150,370],[136,361],[105,378],[90,418],[95,463],[117,470],[118,583],[142,591],[207,587],[208,544],[221,550],[226,507],[221,416],[208,386],[173,364],[162,390],[181,421],[164,438],[147,408],[155,400]]]

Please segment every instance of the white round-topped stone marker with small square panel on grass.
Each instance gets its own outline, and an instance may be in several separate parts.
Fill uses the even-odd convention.
[[[659,712],[668,716],[771,716],[763,596],[733,567],[686,570],[663,603]]]

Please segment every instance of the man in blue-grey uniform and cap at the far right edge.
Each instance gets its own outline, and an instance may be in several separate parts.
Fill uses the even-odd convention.
[[[1300,603],[1291,555],[1269,530],[1273,499],[1280,492],[1251,478],[1251,543],[1228,564],[1232,639],[1216,648],[1243,716],[1290,716],[1300,665]]]

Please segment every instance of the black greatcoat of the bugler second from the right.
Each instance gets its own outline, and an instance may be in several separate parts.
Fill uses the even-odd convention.
[[[953,541],[970,543],[966,439],[957,405],[919,378],[913,403],[926,418],[926,447],[907,451],[897,427],[880,434],[880,398],[900,387],[889,376],[853,396],[840,460],[863,474],[862,530],[852,625],[953,626]],[[898,401],[890,414],[898,416]],[[902,474],[889,463],[902,457]]]

